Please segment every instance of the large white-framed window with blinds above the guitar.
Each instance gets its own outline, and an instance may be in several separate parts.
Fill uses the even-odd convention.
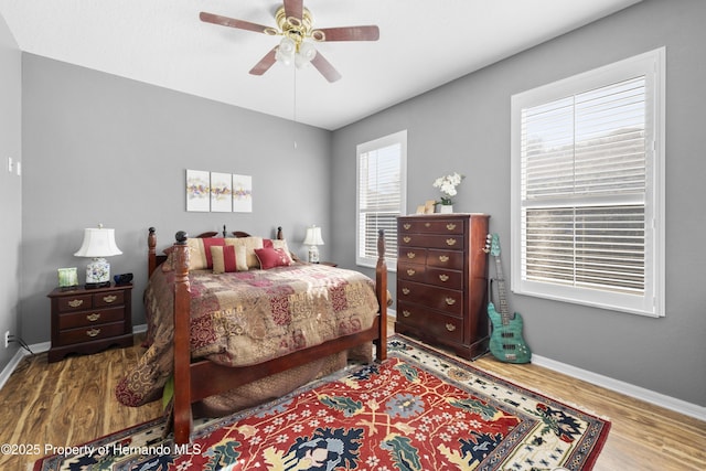
[[[512,97],[512,289],[664,315],[664,49]]]

